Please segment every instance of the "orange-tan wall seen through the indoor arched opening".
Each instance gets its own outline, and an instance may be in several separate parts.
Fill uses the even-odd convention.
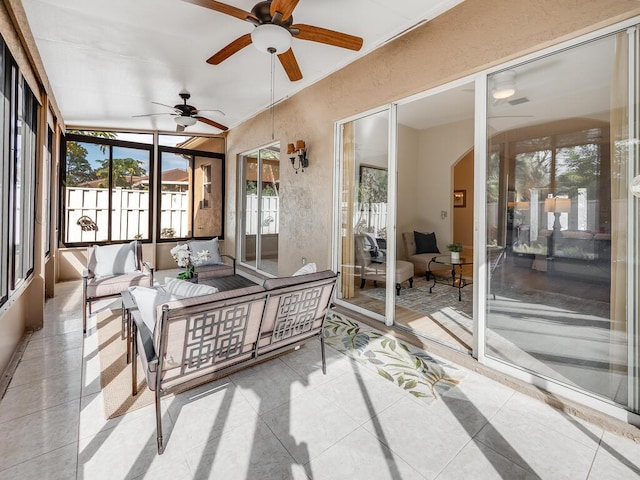
[[[465,190],[464,207],[454,207],[453,241],[462,243],[465,249],[473,249],[473,150],[453,167],[453,189]]]

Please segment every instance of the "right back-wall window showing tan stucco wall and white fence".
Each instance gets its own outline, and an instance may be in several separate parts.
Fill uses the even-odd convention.
[[[159,151],[158,238],[224,238],[224,154]]]

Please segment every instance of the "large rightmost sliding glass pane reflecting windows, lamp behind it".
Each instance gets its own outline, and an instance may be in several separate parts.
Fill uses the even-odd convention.
[[[631,409],[635,35],[489,76],[485,212],[486,357]],[[496,249],[506,255],[492,262]]]

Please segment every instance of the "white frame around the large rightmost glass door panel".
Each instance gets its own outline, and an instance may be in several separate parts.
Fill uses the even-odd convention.
[[[635,17],[630,20],[615,24],[613,26],[596,30],[594,32],[582,35],[578,38],[562,42],[560,44],[548,47],[546,49],[537,51],[535,53],[519,57],[515,60],[500,64],[498,66],[487,69],[478,76],[476,80],[476,118],[475,118],[475,141],[476,141],[476,155],[475,155],[475,178],[476,182],[474,201],[476,205],[482,205],[483,208],[478,208],[475,212],[474,226],[474,242],[477,248],[474,251],[474,278],[478,279],[478,282],[474,281],[474,354],[473,356],[477,360],[498,371],[505,373],[517,379],[520,379],[526,383],[540,387],[551,394],[558,394],[572,401],[579,402],[588,407],[594,408],[600,412],[608,414],[614,418],[620,419],[624,422],[640,424],[640,415],[632,413],[631,411],[622,408],[618,405],[614,405],[610,402],[603,400],[600,397],[590,394],[584,390],[580,390],[577,387],[571,387],[569,385],[561,384],[557,380],[547,378],[540,373],[533,373],[522,368],[519,368],[513,364],[506,363],[495,357],[490,357],[486,352],[486,295],[488,292],[487,285],[487,272],[486,272],[486,169],[488,162],[488,135],[487,135],[487,111],[488,111],[488,95],[487,95],[487,78],[490,74],[504,70],[510,67],[521,65],[525,62],[534,61],[545,56],[553,55],[564,49],[573,48],[578,45],[587,43],[592,40],[599,39],[601,37],[614,34],[616,32],[624,31],[627,29],[631,34],[629,35],[629,132],[630,135],[635,136],[636,139],[639,131],[638,115],[638,90],[633,88],[633,85],[637,85],[640,80],[639,62],[637,45],[640,32],[638,31],[638,25],[640,25],[640,17]],[[630,142],[633,143],[633,142]],[[635,142],[629,145],[629,178],[633,178],[638,175],[640,167],[638,167],[638,160],[640,154],[638,153],[639,145]],[[638,292],[640,286],[640,279],[638,273],[638,242],[640,240],[639,233],[639,221],[638,215],[640,214],[640,208],[638,204],[640,200],[635,199],[629,193],[629,212],[628,219],[629,225],[633,226],[628,232],[628,259],[635,259],[635,265],[629,263],[627,269],[627,285],[628,292]],[[635,225],[634,225],[635,222]],[[634,268],[635,267],[635,268]],[[639,322],[636,320],[639,314],[639,300],[638,295],[627,295],[627,325],[628,325],[628,408],[638,410],[640,405],[640,391],[638,378],[640,358],[638,347],[638,335],[640,334]],[[634,376],[635,374],[635,376]],[[631,419],[634,421],[631,421]]]

